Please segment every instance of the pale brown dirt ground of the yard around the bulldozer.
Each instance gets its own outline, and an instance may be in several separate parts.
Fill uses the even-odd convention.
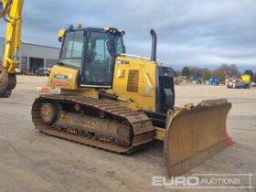
[[[133,155],[115,155],[35,130],[31,104],[38,95],[37,87],[44,86],[46,80],[18,76],[11,98],[0,100],[0,191],[168,191],[165,187],[152,187],[152,176],[166,176],[161,143]],[[228,98],[233,103],[227,126],[234,144],[186,176],[256,175],[256,89],[176,86],[176,105],[218,98]],[[251,178],[252,186],[255,178]],[[241,187],[247,184],[245,181]],[[248,191],[219,189],[228,190]]]

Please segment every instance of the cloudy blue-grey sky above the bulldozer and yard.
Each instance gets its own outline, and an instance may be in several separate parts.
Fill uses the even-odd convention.
[[[255,0],[25,0],[23,15],[24,42],[59,47],[69,24],[111,26],[125,30],[128,53],[149,57],[154,28],[165,64],[256,66]]]

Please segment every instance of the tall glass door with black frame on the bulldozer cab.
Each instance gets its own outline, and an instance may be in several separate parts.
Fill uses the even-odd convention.
[[[112,88],[114,48],[112,36],[90,31],[85,42],[80,87]]]

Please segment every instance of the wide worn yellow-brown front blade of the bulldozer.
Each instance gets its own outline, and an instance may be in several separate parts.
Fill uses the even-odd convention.
[[[201,101],[190,110],[167,112],[164,157],[169,176],[180,176],[229,144],[226,99]],[[230,139],[230,138],[229,138]]]

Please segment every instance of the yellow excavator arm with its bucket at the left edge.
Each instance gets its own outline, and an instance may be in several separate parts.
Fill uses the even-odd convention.
[[[5,54],[0,75],[0,97],[9,97],[16,87],[17,51],[20,48],[24,0],[0,0],[0,17],[6,22]]]

